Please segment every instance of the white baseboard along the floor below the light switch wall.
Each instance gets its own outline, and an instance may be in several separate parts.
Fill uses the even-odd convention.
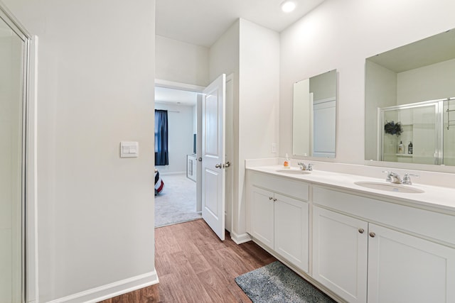
[[[117,297],[120,294],[126,294],[127,292],[139,290],[140,288],[154,285],[158,282],[158,275],[156,275],[156,270],[154,270],[153,272],[147,272],[144,275],[137,275],[125,280],[95,287],[91,290],[71,294],[67,297],[55,299],[48,303],[95,303],[112,297]]]

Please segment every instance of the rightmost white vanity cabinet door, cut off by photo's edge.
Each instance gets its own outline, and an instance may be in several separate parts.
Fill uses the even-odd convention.
[[[368,303],[455,302],[454,248],[375,224],[369,231]]]

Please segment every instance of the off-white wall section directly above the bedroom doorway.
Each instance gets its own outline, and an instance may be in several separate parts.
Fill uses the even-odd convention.
[[[208,48],[156,35],[155,77],[206,87]]]

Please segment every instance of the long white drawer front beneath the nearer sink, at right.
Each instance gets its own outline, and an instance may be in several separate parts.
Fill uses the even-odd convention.
[[[455,216],[323,187],[313,188],[313,203],[455,245]]]

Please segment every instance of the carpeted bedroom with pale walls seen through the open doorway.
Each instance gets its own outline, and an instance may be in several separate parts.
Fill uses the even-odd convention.
[[[200,219],[196,178],[188,176],[188,158],[196,158],[198,93],[155,88],[155,110],[167,112],[168,165],[155,165],[164,186],[155,196],[155,227]],[[156,151],[156,150],[155,150]]]

